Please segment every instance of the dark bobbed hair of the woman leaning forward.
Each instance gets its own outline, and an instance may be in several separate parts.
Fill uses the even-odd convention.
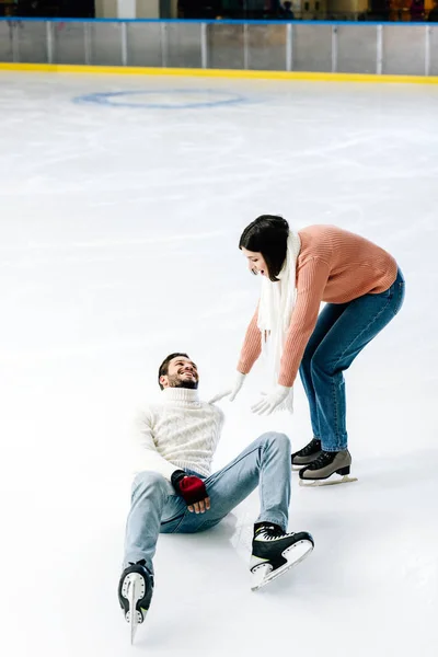
[[[285,264],[289,224],[277,215],[261,215],[241,234],[239,249],[261,253],[267,264],[269,279],[277,281]]]

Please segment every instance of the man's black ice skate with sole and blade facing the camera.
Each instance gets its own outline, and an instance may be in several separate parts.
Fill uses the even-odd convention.
[[[130,625],[130,643],[134,642],[137,625],[145,621],[152,599],[153,577],[145,564],[145,561],[130,564],[122,573],[118,583],[118,601]]]

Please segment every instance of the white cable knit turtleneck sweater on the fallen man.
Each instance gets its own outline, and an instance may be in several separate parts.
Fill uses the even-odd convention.
[[[149,405],[136,431],[136,472],[152,470],[171,480],[175,470],[208,476],[223,413],[200,402],[197,390],[165,388],[162,403]]]

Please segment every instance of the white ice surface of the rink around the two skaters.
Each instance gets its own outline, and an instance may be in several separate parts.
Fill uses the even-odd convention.
[[[0,73],[0,653],[435,657],[438,87]],[[227,385],[260,289],[238,241],[264,212],[389,250],[400,314],[346,374],[357,483],[306,489],[310,557],[250,590],[254,494],[163,535],[136,645],[117,601],[136,410],[187,351]],[[265,387],[266,388],[266,387]],[[233,404],[215,466],[293,416]]]

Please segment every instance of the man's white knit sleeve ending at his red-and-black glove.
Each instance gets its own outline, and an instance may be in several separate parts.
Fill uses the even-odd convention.
[[[134,454],[136,463],[136,474],[145,470],[158,472],[169,482],[172,474],[181,468],[176,468],[173,463],[166,461],[157,450],[153,441],[153,414],[147,410],[141,413],[136,422],[136,436],[134,445]]]

